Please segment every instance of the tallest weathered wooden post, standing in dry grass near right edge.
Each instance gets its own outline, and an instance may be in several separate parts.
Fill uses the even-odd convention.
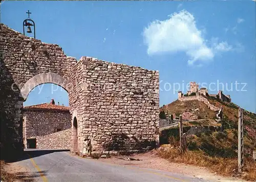
[[[238,172],[242,172],[244,165],[244,141],[243,141],[243,109],[238,108]]]

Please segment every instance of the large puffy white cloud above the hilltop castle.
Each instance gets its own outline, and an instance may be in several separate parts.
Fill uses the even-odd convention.
[[[155,20],[143,30],[148,55],[185,52],[189,65],[197,61],[199,65],[212,60],[218,52],[232,49],[227,42],[218,43],[217,39],[212,47],[208,47],[202,34],[203,30],[197,28],[194,16],[186,10],[169,15],[163,21]]]

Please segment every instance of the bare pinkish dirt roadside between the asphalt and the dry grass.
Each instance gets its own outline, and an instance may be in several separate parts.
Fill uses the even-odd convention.
[[[197,167],[188,164],[181,163],[170,163],[164,158],[161,158],[156,155],[156,150],[143,153],[143,154],[134,154],[132,156],[112,156],[111,158],[100,158],[99,160],[106,163],[113,163],[117,165],[124,166],[136,166],[141,168],[156,169],[162,171],[169,171],[173,173],[184,174],[188,176],[194,176],[197,178],[204,178],[206,180],[212,181],[229,181],[229,180],[238,180],[238,178],[233,177],[223,177],[218,174],[212,173],[207,170],[205,167]],[[132,157],[139,159],[141,161],[127,161],[121,158]],[[241,179],[239,179],[241,181]]]

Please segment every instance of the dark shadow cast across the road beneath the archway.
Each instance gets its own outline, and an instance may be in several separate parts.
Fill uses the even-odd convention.
[[[15,160],[9,160],[6,162],[9,163],[13,163],[13,162],[18,162],[18,161],[24,161],[27,160],[29,158],[33,158],[33,157],[37,157],[37,156],[41,156],[41,155],[46,155],[49,153],[53,153],[53,152],[67,152],[70,150],[66,150],[66,149],[56,149],[56,150],[44,150],[44,149],[24,149],[23,155],[21,157],[19,157],[18,159]]]

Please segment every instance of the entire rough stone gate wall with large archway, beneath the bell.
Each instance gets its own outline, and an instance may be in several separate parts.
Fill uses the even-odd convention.
[[[54,83],[69,93],[78,120],[79,154],[157,146],[159,73],[90,57],[77,61],[57,44],[1,24],[1,155],[23,151],[22,108],[35,86]],[[71,121],[72,122],[72,121]],[[122,141],[117,146],[117,141]],[[129,144],[129,145],[127,145]]]

